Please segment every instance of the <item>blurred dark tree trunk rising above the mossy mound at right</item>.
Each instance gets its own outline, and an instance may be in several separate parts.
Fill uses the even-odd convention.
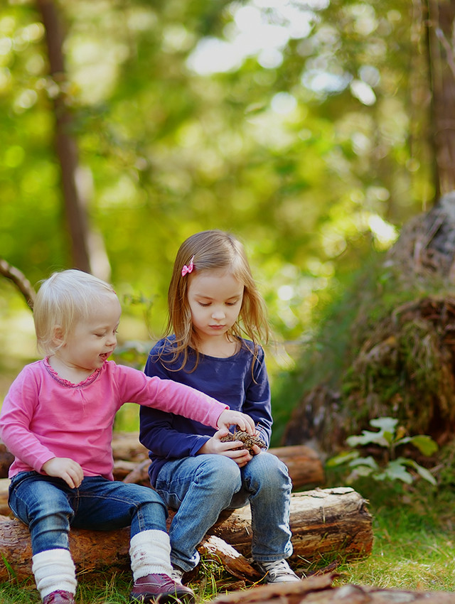
[[[455,2],[428,0],[427,44],[432,91],[436,198],[455,190]]]

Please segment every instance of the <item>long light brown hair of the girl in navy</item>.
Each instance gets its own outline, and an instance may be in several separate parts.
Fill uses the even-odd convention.
[[[188,347],[196,349],[196,367],[199,361],[197,336],[193,329],[191,310],[188,303],[188,274],[182,276],[182,268],[193,259],[196,273],[212,269],[228,269],[244,286],[239,318],[232,325],[230,335],[240,339],[246,335],[253,343],[254,360],[259,352],[259,342],[267,343],[269,325],[264,300],[253,279],[245,248],[232,234],[220,230],[202,231],[188,237],[181,244],[173,265],[168,289],[168,324],[166,335],[176,337],[173,361],[183,352],[180,369],[188,361]],[[254,361],[253,361],[254,365]],[[195,367],[195,368],[196,368]]]

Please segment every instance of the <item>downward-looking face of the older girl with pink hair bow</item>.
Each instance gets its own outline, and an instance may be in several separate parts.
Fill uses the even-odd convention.
[[[225,339],[240,313],[243,284],[225,269],[205,270],[188,277],[188,303],[198,337],[202,342]]]

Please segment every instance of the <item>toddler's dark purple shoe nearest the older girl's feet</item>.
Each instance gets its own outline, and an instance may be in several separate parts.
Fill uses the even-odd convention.
[[[192,589],[176,583],[167,575],[152,574],[134,581],[129,598],[130,604],[166,604],[177,601],[191,604],[194,602],[194,593]]]

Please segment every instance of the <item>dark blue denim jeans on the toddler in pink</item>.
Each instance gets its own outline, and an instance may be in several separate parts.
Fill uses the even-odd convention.
[[[148,487],[86,476],[72,489],[61,478],[21,472],[9,487],[9,506],[28,524],[32,552],[69,549],[70,527],[109,531],[131,525],[131,536],[166,531],[167,507]]]

